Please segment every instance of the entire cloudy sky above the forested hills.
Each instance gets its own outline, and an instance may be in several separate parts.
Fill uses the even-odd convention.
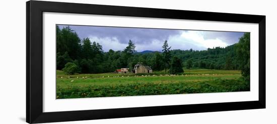
[[[67,25],[58,25],[60,29]],[[83,39],[89,37],[103,46],[104,51],[109,49],[122,50],[129,40],[135,43],[135,50],[161,51],[165,40],[168,40],[171,49],[206,50],[213,47],[226,47],[237,43],[243,32],[194,31],[151,28],[122,28],[99,26],[73,26],[70,28]]]

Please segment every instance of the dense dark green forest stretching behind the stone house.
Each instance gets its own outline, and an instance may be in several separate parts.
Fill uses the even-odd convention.
[[[171,49],[165,40],[161,52],[136,52],[135,44],[129,40],[125,49],[104,52],[97,41],[80,39],[69,26],[62,29],[56,26],[56,45],[56,68],[68,74],[109,73],[120,68],[132,69],[137,63],[170,73],[181,73],[180,68],[242,70],[242,75],[248,78],[250,73],[250,33],[225,48]]]

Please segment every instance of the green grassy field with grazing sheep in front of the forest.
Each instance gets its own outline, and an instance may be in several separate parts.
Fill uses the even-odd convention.
[[[249,91],[236,70],[184,70],[168,75],[152,74],[76,74],[56,71],[56,98],[113,97],[185,93]]]

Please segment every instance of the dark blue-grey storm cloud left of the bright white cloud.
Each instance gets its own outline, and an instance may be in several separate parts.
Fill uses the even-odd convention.
[[[60,28],[67,25],[59,25]],[[95,36],[98,38],[116,37],[120,43],[126,44],[132,40],[136,44],[146,44],[153,40],[163,42],[169,36],[179,35],[180,30],[150,29],[150,28],[123,28],[123,27],[100,27],[100,26],[74,26],[70,28],[76,31],[81,39]]]

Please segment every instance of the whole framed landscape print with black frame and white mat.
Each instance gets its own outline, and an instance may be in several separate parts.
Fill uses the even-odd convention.
[[[265,108],[265,16],[26,6],[29,123]]]

